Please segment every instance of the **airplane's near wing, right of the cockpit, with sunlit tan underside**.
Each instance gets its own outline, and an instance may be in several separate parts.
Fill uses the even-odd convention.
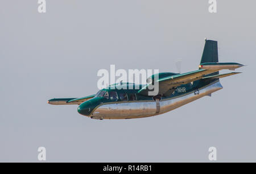
[[[159,78],[159,92],[158,94],[163,94],[164,96],[170,95],[174,92],[177,86],[182,84],[187,84],[192,81],[200,80],[207,74],[211,74],[219,71],[220,69],[199,69],[197,71],[192,71],[188,73],[176,74],[174,76]],[[138,93],[148,96],[148,85],[144,86]]]

